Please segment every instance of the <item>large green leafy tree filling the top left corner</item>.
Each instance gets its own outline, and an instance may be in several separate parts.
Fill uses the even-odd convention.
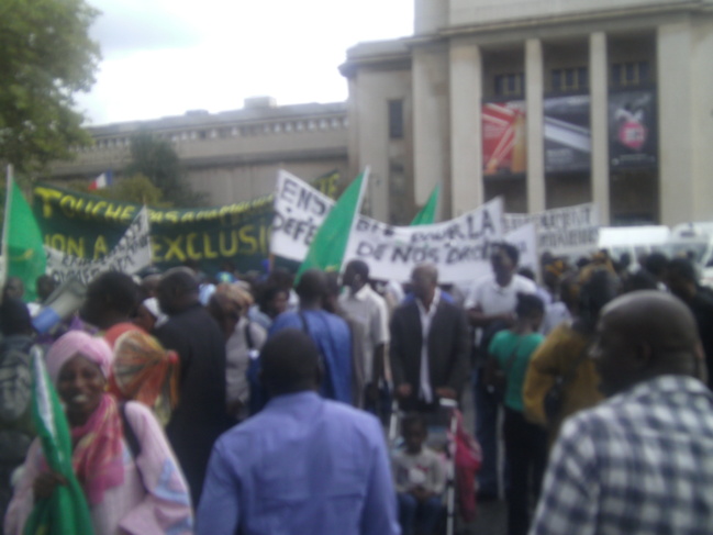
[[[0,159],[20,172],[73,157],[90,142],[74,94],[88,91],[100,59],[83,0],[0,2]]]

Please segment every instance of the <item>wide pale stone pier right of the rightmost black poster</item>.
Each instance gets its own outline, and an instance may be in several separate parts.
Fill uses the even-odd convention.
[[[690,22],[659,26],[656,48],[661,223],[676,225],[691,221],[695,205]]]

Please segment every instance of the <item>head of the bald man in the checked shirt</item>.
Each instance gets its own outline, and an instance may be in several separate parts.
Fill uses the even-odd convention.
[[[606,395],[661,375],[700,377],[695,320],[678,298],[655,290],[626,293],[604,309],[591,356]]]

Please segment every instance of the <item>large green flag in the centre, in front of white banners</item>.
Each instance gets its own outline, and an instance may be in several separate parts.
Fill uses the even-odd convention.
[[[349,239],[354,218],[361,208],[361,192],[367,182],[368,170],[360,174],[342,193],[314,235],[300,269],[299,277],[310,268],[338,271]]]

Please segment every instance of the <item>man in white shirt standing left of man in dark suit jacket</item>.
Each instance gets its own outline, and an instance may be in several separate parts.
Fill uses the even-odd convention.
[[[363,260],[347,264],[342,282],[347,291],[339,297],[339,305],[364,326],[364,406],[379,415],[379,386],[383,386],[389,343],[387,303],[369,286],[369,266]]]

